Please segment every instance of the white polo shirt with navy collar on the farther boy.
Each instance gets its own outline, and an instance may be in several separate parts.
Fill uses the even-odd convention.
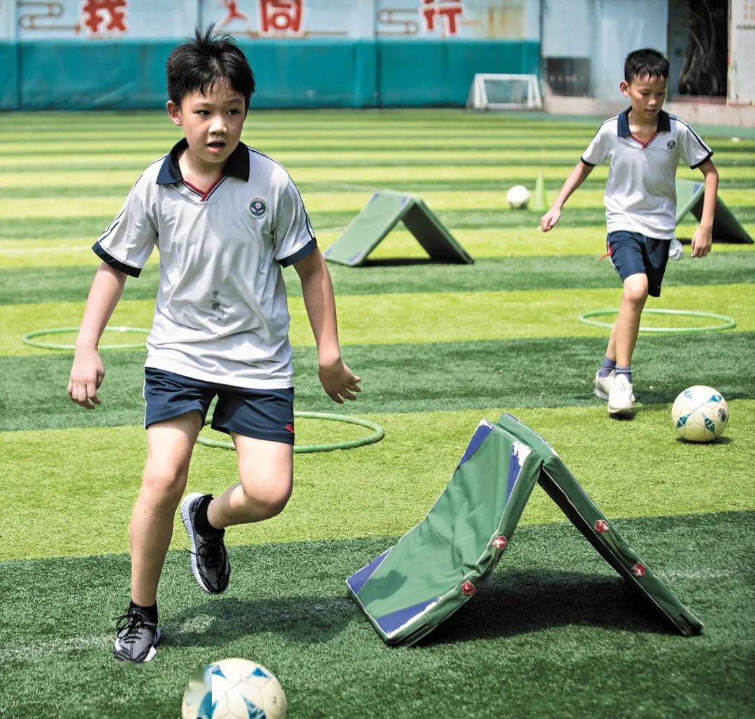
[[[643,144],[630,132],[629,110],[599,127],[581,159],[589,165],[610,162],[604,198],[609,232],[623,229],[670,240],[676,227],[676,167],[680,159],[699,167],[713,150],[689,124],[663,110],[658,131]]]

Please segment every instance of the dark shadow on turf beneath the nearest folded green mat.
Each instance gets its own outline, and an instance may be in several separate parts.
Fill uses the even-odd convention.
[[[677,634],[621,577],[522,570],[494,573],[474,601],[417,646],[509,637],[565,625]]]

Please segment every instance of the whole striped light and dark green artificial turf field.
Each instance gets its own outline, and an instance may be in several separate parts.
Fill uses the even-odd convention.
[[[164,641],[153,662],[130,668],[110,650],[128,604],[128,517],[146,451],[144,352],[103,352],[103,404],[86,412],[66,395],[72,355],[20,336],[79,323],[98,264],[89,247],[143,167],[180,135],[164,113],[0,115],[0,716],[176,717],[193,669],[227,656],[274,671],[290,717],[752,715],[755,251],[714,244],[691,260],[688,246],[669,263],[649,307],[716,312],[737,327],[641,335],[636,419],[609,420],[592,394],[608,330],[577,320],[620,297],[612,267],[597,261],[607,169],[593,171],[547,235],[540,213],[504,206],[509,186],[532,189],[540,172],[553,200],[596,122],[251,111],[242,139],[288,168],[321,247],[374,189],[391,188],[421,195],[476,263],[423,262],[397,230],[371,266],[331,266],[344,359],[364,388],[347,407],[319,386],[287,272],[297,410],[355,413],[386,436],[297,455],[285,512],[228,531],[233,573],[222,597],[196,586],[177,521],[158,597]],[[755,133],[736,142],[698,129],[716,151],[721,197],[755,235]],[[111,324],[149,327],[157,261],[128,280]],[[669,323],[643,321],[661,320]],[[103,343],[123,340],[134,336],[107,333]],[[716,443],[675,438],[670,403],[694,384],[729,401]],[[474,601],[417,647],[384,646],[344,579],[424,518],[479,419],[502,410],[556,447],[704,622],[703,635],[676,635],[638,604],[538,487]],[[297,441],[361,431],[300,420]],[[187,491],[219,493],[235,481],[234,462],[196,447]]]

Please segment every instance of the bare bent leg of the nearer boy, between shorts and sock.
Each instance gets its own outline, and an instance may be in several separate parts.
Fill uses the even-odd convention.
[[[232,437],[240,481],[208,505],[208,521],[217,529],[274,517],[285,507],[293,487],[293,445],[235,432]]]

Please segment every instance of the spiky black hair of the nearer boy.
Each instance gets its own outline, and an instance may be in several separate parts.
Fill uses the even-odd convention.
[[[254,72],[236,41],[230,35],[213,35],[214,24],[202,35],[195,36],[174,48],[168,57],[168,97],[180,106],[186,95],[199,91],[205,94],[218,82],[227,82],[233,91],[244,97],[245,109],[254,93]]]

